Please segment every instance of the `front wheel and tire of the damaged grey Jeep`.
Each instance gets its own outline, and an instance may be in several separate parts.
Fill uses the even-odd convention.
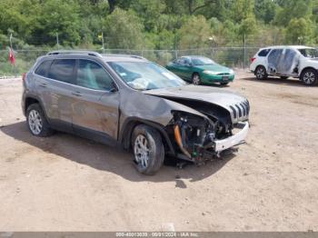
[[[140,124],[132,136],[134,166],[141,174],[154,175],[164,164],[164,144],[154,128]],[[144,149],[145,148],[145,149]]]

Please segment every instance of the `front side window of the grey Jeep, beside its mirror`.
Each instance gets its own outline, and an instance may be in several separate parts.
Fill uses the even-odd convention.
[[[104,68],[90,60],[79,60],[76,84],[90,89],[111,91],[114,88],[111,76]]]

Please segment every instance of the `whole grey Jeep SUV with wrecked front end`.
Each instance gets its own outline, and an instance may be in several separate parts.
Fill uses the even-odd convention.
[[[142,174],[155,174],[165,155],[202,164],[242,144],[249,129],[243,96],[187,84],[136,55],[51,52],[23,84],[31,134],[57,130],[122,144]]]

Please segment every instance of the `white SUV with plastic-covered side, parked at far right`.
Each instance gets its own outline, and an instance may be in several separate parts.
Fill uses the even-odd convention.
[[[251,58],[250,70],[257,79],[268,75],[299,78],[303,84],[318,84],[318,51],[303,45],[270,46]]]

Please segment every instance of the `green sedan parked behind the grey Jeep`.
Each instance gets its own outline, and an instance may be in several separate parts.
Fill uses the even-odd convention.
[[[234,71],[204,56],[182,56],[165,66],[193,84],[226,85],[234,80]]]

